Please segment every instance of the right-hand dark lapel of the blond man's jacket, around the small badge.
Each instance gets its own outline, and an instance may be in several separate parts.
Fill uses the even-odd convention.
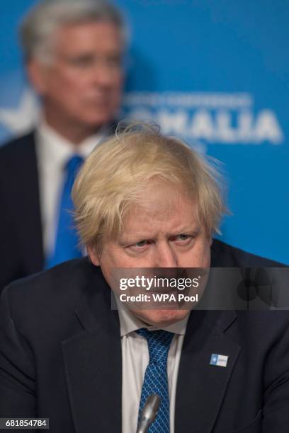
[[[235,318],[233,311],[191,313],[179,365],[175,433],[212,432],[239,355],[239,345],[224,333]],[[227,366],[210,365],[213,353],[227,355]]]

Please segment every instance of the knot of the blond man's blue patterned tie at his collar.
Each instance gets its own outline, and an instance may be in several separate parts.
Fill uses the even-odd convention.
[[[141,328],[135,332],[147,340],[147,346],[149,348],[149,363],[157,362],[166,364],[169,347],[174,334],[165,330],[149,331],[147,328]]]

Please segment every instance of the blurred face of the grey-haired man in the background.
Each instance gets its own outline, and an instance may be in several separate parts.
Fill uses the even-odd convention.
[[[111,121],[123,83],[118,28],[101,22],[64,25],[52,40],[52,53],[50,64],[33,59],[28,65],[48,116],[82,127]]]

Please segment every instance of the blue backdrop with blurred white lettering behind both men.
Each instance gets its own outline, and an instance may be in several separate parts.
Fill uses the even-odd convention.
[[[1,5],[0,141],[37,115],[17,25],[34,0]],[[224,241],[289,263],[287,0],[119,0],[132,42],[123,115],[159,122],[222,161]]]

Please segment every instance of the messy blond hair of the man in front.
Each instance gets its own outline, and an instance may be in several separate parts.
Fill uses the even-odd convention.
[[[84,245],[100,248],[104,236],[117,238],[128,211],[155,178],[187,192],[208,236],[218,232],[225,205],[220,173],[208,158],[162,135],[156,124],[120,122],[92,151],[74,183],[75,221]]]

